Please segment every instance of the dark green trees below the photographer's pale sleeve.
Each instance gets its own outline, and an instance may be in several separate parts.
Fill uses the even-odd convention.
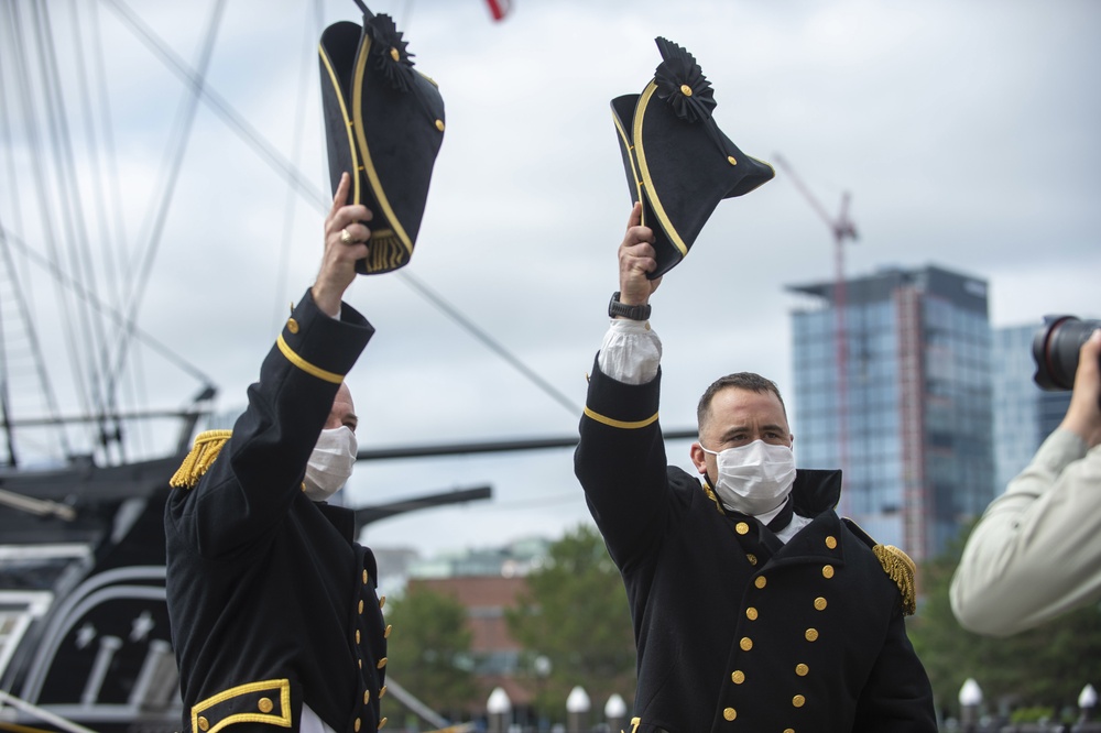
[[[1007,638],[964,631],[952,615],[948,590],[969,533],[918,572],[922,601],[909,636],[929,672],[937,705],[957,714],[959,689],[973,677],[991,712],[1075,707],[1087,682],[1101,682],[1101,608],[1083,608]]]

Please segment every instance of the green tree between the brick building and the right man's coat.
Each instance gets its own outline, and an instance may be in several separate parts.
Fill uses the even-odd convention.
[[[527,576],[527,590],[505,622],[530,659],[550,660],[546,680],[528,666],[538,710],[564,714],[576,685],[589,693],[593,710],[613,692],[630,704],[635,653],[626,591],[591,525],[578,525],[550,545],[546,564]]]

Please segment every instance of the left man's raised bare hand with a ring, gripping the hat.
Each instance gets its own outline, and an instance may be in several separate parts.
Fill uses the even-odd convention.
[[[351,176],[345,173],[325,217],[325,253],[312,288],[317,307],[334,318],[340,315],[340,300],[356,280],[356,261],[367,256],[371,238],[371,230],[362,223],[371,220],[371,211],[361,204],[345,206],[350,188]]]

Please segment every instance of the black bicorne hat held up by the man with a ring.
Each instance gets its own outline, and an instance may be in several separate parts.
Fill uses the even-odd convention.
[[[404,266],[413,254],[444,139],[444,99],[413,68],[393,20],[356,4],[362,26],[341,21],[321,34],[321,103],[333,192],[350,173],[348,203],[374,215],[370,254],[356,270],[375,274]]]

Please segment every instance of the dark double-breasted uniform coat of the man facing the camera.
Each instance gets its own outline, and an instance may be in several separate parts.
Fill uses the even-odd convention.
[[[898,587],[832,511],[836,471],[798,471],[814,517],[775,554],[666,466],[661,374],[628,385],[593,366],[575,470],[623,576],[639,682],[630,731],[936,733]]]

